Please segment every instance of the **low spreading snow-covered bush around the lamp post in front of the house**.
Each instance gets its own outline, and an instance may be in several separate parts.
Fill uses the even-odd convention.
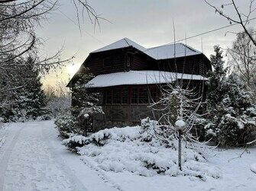
[[[161,126],[149,118],[141,126],[104,129],[89,137],[76,135],[63,140],[63,144],[75,149],[85,162],[105,171],[128,171],[141,176],[157,174],[176,177],[178,175],[219,178],[220,171],[207,164],[206,147],[199,143],[183,142],[182,170],[178,167],[178,140],[169,142],[157,138]],[[76,143],[77,146],[73,146]],[[203,154],[204,153],[204,154]]]

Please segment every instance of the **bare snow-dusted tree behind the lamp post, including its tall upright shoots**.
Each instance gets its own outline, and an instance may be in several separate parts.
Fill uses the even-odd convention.
[[[196,128],[194,127],[197,123],[197,117],[200,116],[199,110],[203,107],[203,91],[205,78],[200,79],[202,80],[202,87],[199,87],[198,90],[196,90],[196,88],[191,85],[193,75],[188,75],[184,72],[186,65],[186,44],[183,49],[184,61],[182,72],[178,73],[178,67],[176,62],[177,45],[174,21],[173,40],[173,64],[176,72],[160,72],[160,76],[164,78],[164,81],[166,81],[167,84],[158,85],[161,94],[160,100],[154,102],[154,100],[151,99],[153,102],[151,104],[152,112],[154,113],[154,116],[158,116],[158,123],[164,125],[163,131],[160,132],[160,134],[156,132],[156,135],[159,138],[164,139],[164,141],[171,143],[171,139],[173,137],[178,137],[178,130],[175,128],[175,123],[177,122],[177,120],[182,120],[184,123],[186,123],[186,128],[183,130],[183,138],[186,141],[198,142],[199,136],[197,134]],[[169,62],[168,65],[171,68],[171,64]],[[184,76],[190,77],[190,79],[184,80]],[[196,136],[191,133],[192,129],[196,132]]]

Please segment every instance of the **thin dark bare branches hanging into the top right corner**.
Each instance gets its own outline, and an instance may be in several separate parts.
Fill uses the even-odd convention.
[[[256,5],[254,0],[248,0],[248,12],[241,12],[238,8],[238,3],[235,2],[235,0],[228,0],[228,2],[225,2],[225,4],[218,6],[212,5],[212,3],[209,3],[208,0],[205,0],[205,2],[212,8],[215,9],[215,12],[218,13],[221,17],[226,18],[230,24],[239,24],[243,30],[245,31],[245,34],[248,35],[251,42],[256,46],[256,40],[251,35],[250,30],[248,29],[248,24],[251,20],[254,20],[255,18],[251,18],[251,15],[256,10]],[[245,2],[245,1],[243,1]],[[232,8],[233,12],[235,12],[235,16],[232,16],[231,14],[228,14],[225,9]]]

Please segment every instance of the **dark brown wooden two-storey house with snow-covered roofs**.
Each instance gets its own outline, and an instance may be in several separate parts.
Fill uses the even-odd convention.
[[[203,53],[183,43],[146,49],[128,38],[93,51],[83,66],[95,76],[85,87],[99,92],[105,112],[95,117],[96,129],[153,118],[148,106],[159,99],[159,84],[182,79],[200,87],[212,69]],[[74,75],[67,87],[72,88],[78,78]]]

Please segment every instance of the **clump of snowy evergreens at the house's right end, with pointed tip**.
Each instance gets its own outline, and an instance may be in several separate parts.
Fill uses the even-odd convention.
[[[251,92],[235,75],[226,76],[222,51],[215,46],[211,56],[214,70],[209,72],[206,136],[222,146],[245,145],[255,139],[256,109]]]

